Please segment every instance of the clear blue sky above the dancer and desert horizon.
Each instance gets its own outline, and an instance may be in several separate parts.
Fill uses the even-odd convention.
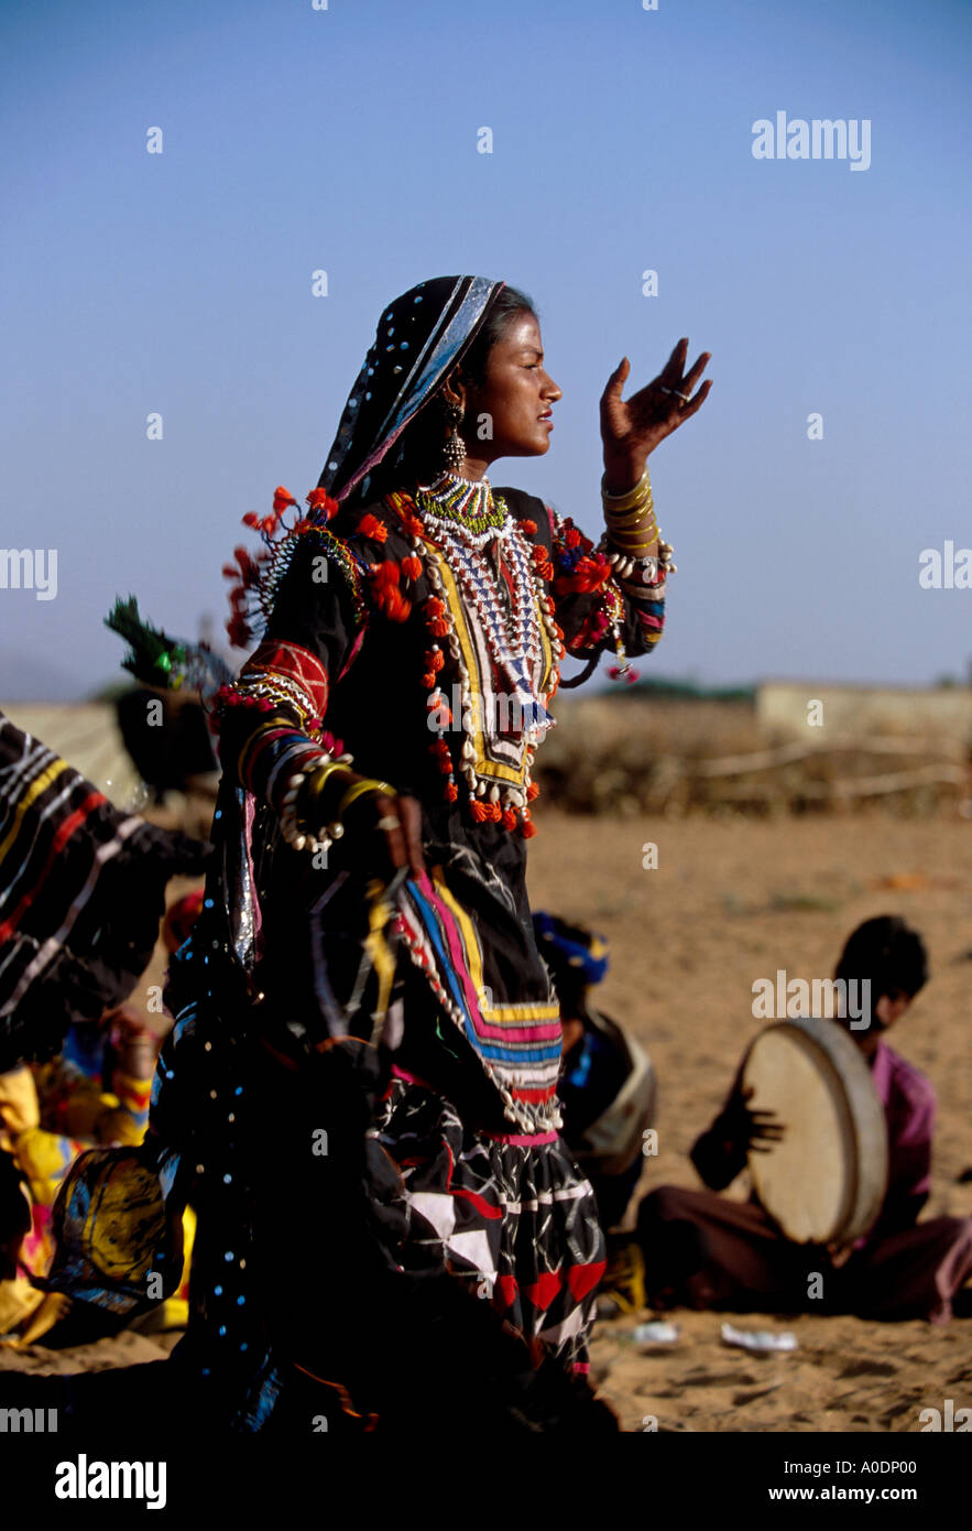
[[[609,371],[712,351],[652,456],[658,674],[966,675],[972,591],[921,589],[918,556],[972,545],[972,8],[8,0],[0,26],[0,544],[58,550],[55,600],[0,589],[0,695],[113,678],[116,592],[222,631],[239,517],[317,482],[381,309],[452,271],[531,292],[563,389],[550,455],[494,482],[591,531]],[[778,110],[868,118],[871,167],[755,159]]]

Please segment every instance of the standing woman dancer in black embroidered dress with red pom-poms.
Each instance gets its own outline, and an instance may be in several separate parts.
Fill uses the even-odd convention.
[[[231,635],[262,637],[216,701],[220,867],[150,1130],[168,1211],[199,1217],[176,1355],[237,1428],[592,1418],[603,1242],[557,1134],[531,769],[565,655],[626,674],[661,634],[646,459],[709,392],[686,354],[628,401],[626,360],[606,386],[595,548],[487,478],[550,447],[531,302],[422,282],[383,312],[308,511],[280,488],[245,517],[265,548],[237,550]]]

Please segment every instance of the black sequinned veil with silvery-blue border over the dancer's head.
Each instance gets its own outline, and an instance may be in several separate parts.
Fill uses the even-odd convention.
[[[352,387],[318,488],[344,499],[393,446],[478,335],[505,286],[433,277],[393,299]]]

